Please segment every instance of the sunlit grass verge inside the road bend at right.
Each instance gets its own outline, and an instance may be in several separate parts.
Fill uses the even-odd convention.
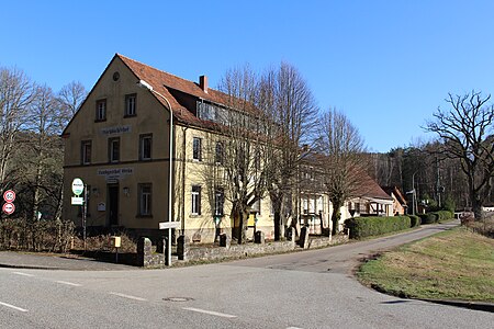
[[[493,273],[494,239],[456,228],[369,260],[357,277],[400,297],[494,303]]]

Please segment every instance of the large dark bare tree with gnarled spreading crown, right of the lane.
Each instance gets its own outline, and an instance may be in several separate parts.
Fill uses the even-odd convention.
[[[494,175],[494,107],[491,95],[472,91],[464,95],[449,94],[449,111],[438,111],[426,129],[442,141],[439,155],[459,159],[468,178],[469,197],[475,218],[482,219],[482,205],[492,189]]]

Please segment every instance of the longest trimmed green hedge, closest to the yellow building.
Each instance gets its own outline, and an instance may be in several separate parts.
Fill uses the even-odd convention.
[[[361,239],[411,228],[412,220],[408,216],[357,217],[345,220],[345,227],[350,229],[350,239]]]

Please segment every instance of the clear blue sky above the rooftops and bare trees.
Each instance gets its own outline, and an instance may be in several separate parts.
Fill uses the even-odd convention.
[[[7,1],[0,66],[90,90],[115,53],[214,87],[232,67],[299,68],[373,151],[429,140],[448,92],[494,92],[494,1]]]

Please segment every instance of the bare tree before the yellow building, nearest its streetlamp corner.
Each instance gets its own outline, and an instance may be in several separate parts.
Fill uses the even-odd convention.
[[[258,110],[257,76],[248,68],[226,72],[218,89],[227,95],[222,116],[223,182],[225,198],[232,202],[233,236],[246,241],[249,215],[266,194],[266,117]]]

